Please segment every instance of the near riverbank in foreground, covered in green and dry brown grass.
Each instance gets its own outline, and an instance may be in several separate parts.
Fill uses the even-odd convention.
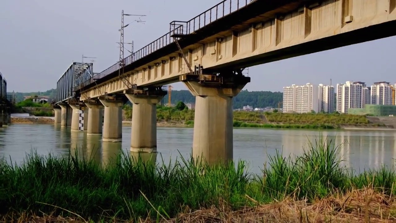
[[[244,161],[153,165],[123,154],[103,165],[76,154],[31,154],[24,165],[0,163],[0,214],[94,222],[395,220],[394,171],[348,171],[340,165],[341,147],[320,138],[296,158],[270,157],[260,175],[247,173]]]

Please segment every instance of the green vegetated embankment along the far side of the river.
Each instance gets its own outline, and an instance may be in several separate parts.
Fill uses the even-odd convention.
[[[123,107],[123,124],[130,125],[132,108]],[[273,113],[234,111],[234,127],[276,129],[380,129],[392,130],[396,121],[393,117],[366,117],[365,115],[324,113]],[[158,106],[158,126],[192,127],[194,110],[177,110]],[[13,123],[51,123],[48,120],[11,119]]]

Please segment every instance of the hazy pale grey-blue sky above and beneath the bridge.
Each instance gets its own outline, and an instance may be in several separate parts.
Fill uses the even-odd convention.
[[[169,32],[173,20],[188,21],[219,0],[0,0],[0,71],[8,91],[45,91],[56,87],[72,61],[84,54],[97,57],[100,72],[118,60],[121,10],[145,14],[146,24],[133,23],[125,31],[135,51]],[[126,17],[129,23],[136,17]],[[281,91],[305,83],[345,81],[396,82],[390,37],[249,68],[248,90]],[[126,45],[128,47],[128,45]],[[89,61],[90,59],[85,59]],[[182,83],[175,89],[187,89]]]

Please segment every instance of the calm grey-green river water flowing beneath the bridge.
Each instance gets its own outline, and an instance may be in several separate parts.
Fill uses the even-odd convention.
[[[0,157],[21,163],[32,150],[40,155],[67,154],[69,148],[78,148],[95,160],[106,163],[121,150],[129,152],[131,126],[122,127],[122,142],[102,142],[101,136],[87,136],[83,132],[70,132],[50,124],[12,124],[0,129]],[[157,161],[174,161],[180,154],[188,158],[192,146],[192,128],[157,128]],[[301,154],[308,139],[315,140],[320,132],[286,129],[234,129],[234,160],[245,160],[249,171],[259,173],[268,155],[276,150],[283,154]],[[344,143],[340,156],[343,164],[359,171],[378,168],[382,164],[394,166],[396,158],[396,131],[322,131],[324,136]],[[76,152],[76,151],[74,151]]]

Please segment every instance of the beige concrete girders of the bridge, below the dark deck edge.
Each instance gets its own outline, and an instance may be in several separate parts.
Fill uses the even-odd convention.
[[[396,35],[392,28],[396,24],[394,4],[394,0],[339,0],[313,8],[294,7],[276,17],[268,15],[270,19],[251,19],[239,31],[225,31],[222,36],[214,35],[183,51],[192,68],[198,64],[204,69],[242,68],[383,38]],[[381,31],[369,31],[379,26]],[[137,86],[162,85],[187,73],[181,55],[172,52],[135,68],[128,81]],[[116,78],[97,88],[101,90],[89,89],[87,95],[95,98],[99,92],[127,90]]]

